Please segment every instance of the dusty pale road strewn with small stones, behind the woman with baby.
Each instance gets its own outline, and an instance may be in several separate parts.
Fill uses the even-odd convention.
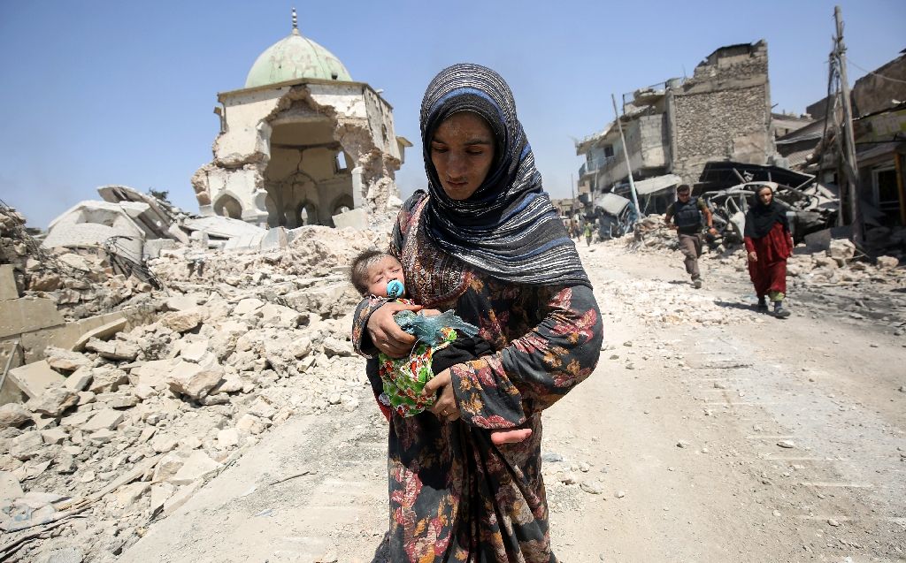
[[[562,560],[906,561],[906,338],[889,318],[794,294],[776,320],[731,266],[708,262],[696,291],[679,254],[580,250],[607,349],[545,413]],[[369,393],[265,434],[118,560],[383,561]]]

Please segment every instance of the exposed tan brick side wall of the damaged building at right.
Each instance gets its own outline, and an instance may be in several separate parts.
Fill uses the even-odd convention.
[[[770,134],[767,45],[724,47],[669,92],[672,172],[694,184],[708,160],[766,164]]]

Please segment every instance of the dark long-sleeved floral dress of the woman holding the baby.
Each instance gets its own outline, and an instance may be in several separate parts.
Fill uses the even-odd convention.
[[[550,563],[541,415],[591,375],[602,342],[591,288],[500,282],[441,253],[419,225],[427,196],[400,211],[390,252],[403,264],[410,298],[454,309],[497,350],[451,370],[461,418],[390,416],[390,560]],[[353,343],[376,356],[365,330],[383,301],[362,301]],[[464,367],[463,367],[464,366]],[[377,369],[371,367],[370,374]],[[490,430],[531,428],[518,444]]]

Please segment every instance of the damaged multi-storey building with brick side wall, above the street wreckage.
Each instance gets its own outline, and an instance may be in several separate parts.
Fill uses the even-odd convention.
[[[664,192],[694,185],[708,161],[766,165],[775,155],[767,44],[721,47],[688,79],[670,79],[623,100],[621,125],[635,180],[659,178],[640,192],[642,213],[662,212]],[[616,121],[576,143],[585,157],[579,192],[628,193],[629,168]],[[646,204],[649,208],[646,211]]]

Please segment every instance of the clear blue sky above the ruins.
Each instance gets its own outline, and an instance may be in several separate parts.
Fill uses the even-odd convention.
[[[418,111],[453,62],[500,72],[516,96],[545,187],[568,196],[573,138],[613,119],[618,96],[691,75],[721,45],[765,39],[775,110],[824,96],[834,4],[852,62],[874,69],[906,47],[902,0],[303,3],[200,0],[0,1],[0,198],[45,227],[97,186],[168,190],[198,211],[189,179],[211,159],[218,91],[241,88],[255,58],[290,32],[332,51],[394,108],[415,147],[397,176],[424,186]],[[863,71],[850,67],[850,80]]]

